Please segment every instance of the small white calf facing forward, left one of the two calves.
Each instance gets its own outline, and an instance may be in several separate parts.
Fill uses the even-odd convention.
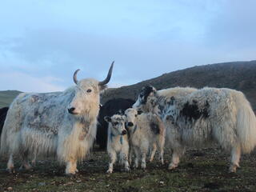
[[[110,165],[106,172],[108,174],[113,172],[113,165],[117,160],[117,154],[119,154],[121,162],[125,164],[126,171],[130,171],[128,162],[129,142],[125,128],[126,117],[114,114],[111,118],[106,116],[104,119],[109,123],[106,149],[110,156]]]

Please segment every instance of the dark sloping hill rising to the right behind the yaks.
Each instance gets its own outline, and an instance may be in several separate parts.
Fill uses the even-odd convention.
[[[136,100],[142,86],[152,85],[158,90],[174,86],[227,87],[241,90],[256,110],[256,61],[224,62],[205,66],[194,66],[162,74],[158,78],[138,82],[132,86],[108,89],[102,94],[102,104],[110,98]]]

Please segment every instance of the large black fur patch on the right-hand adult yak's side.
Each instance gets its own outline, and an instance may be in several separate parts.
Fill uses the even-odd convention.
[[[186,102],[181,110],[181,115],[186,118],[186,121],[192,121],[192,119],[198,120],[198,118],[208,118],[209,106],[209,102],[206,101],[205,106],[202,109],[199,109],[197,101],[193,100],[192,104]]]

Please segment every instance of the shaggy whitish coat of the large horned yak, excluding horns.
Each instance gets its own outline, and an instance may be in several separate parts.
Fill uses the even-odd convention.
[[[10,157],[7,168],[13,171],[14,154],[26,168],[29,157],[57,155],[66,163],[66,174],[75,174],[77,162],[94,142],[102,88],[97,80],[86,78],[63,92],[19,94],[2,129],[0,153]]]

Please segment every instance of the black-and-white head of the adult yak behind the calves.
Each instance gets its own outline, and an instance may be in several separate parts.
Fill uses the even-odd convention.
[[[133,108],[142,110],[145,113],[154,112],[154,106],[157,101],[157,90],[154,86],[143,86],[137,101],[134,103]]]

